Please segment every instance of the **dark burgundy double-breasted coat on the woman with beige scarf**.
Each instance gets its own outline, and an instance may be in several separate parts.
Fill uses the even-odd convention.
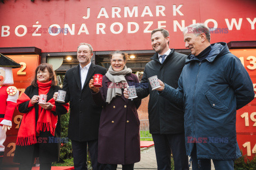
[[[129,86],[139,83],[136,75],[128,74],[125,79]],[[133,164],[140,161],[140,121],[137,109],[140,99],[126,99],[116,96],[106,103],[111,81],[103,76],[102,88],[93,94],[95,103],[101,107],[99,128],[98,161],[102,164]],[[123,90],[122,90],[123,91]]]

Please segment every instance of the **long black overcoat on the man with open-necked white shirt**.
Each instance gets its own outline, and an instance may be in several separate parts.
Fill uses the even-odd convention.
[[[80,142],[98,139],[102,107],[94,103],[89,81],[94,74],[105,75],[106,72],[104,67],[91,63],[84,87],[81,87],[79,64],[66,72],[62,89],[67,91],[65,101],[70,101],[69,139]]]

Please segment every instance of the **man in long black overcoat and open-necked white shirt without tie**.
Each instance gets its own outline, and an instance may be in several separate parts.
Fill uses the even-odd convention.
[[[107,69],[91,62],[93,49],[81,43],[77,48],[79,64],[66,72],[63,90],[67,91],[66,102],[70,101],[68,138],[71,139],[75,169],[87,169],[87,145],[93,169],[98,163],[98,133],[102,107],[95,105],[89,81],[94,74],[105,75]]]

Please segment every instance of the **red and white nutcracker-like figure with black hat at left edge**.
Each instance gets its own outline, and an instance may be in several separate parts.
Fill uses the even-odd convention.
[[[4,156],[6,131],[12,128],[12,115],[19,97],[19,91],[13,84],[12,68],[20,64],[0,54],[0,167]]]

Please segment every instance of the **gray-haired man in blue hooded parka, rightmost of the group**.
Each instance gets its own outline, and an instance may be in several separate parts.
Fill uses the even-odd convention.
[[[234,169],[241,156],[236,141],[236,110],[254,99],[253,84],[239,58],[226,43],[210,44],[203,23],[184,31],[185,47],[191,50],[178,89],[161,82],[159,94],[185,109],[187,155],[192,168]]]

